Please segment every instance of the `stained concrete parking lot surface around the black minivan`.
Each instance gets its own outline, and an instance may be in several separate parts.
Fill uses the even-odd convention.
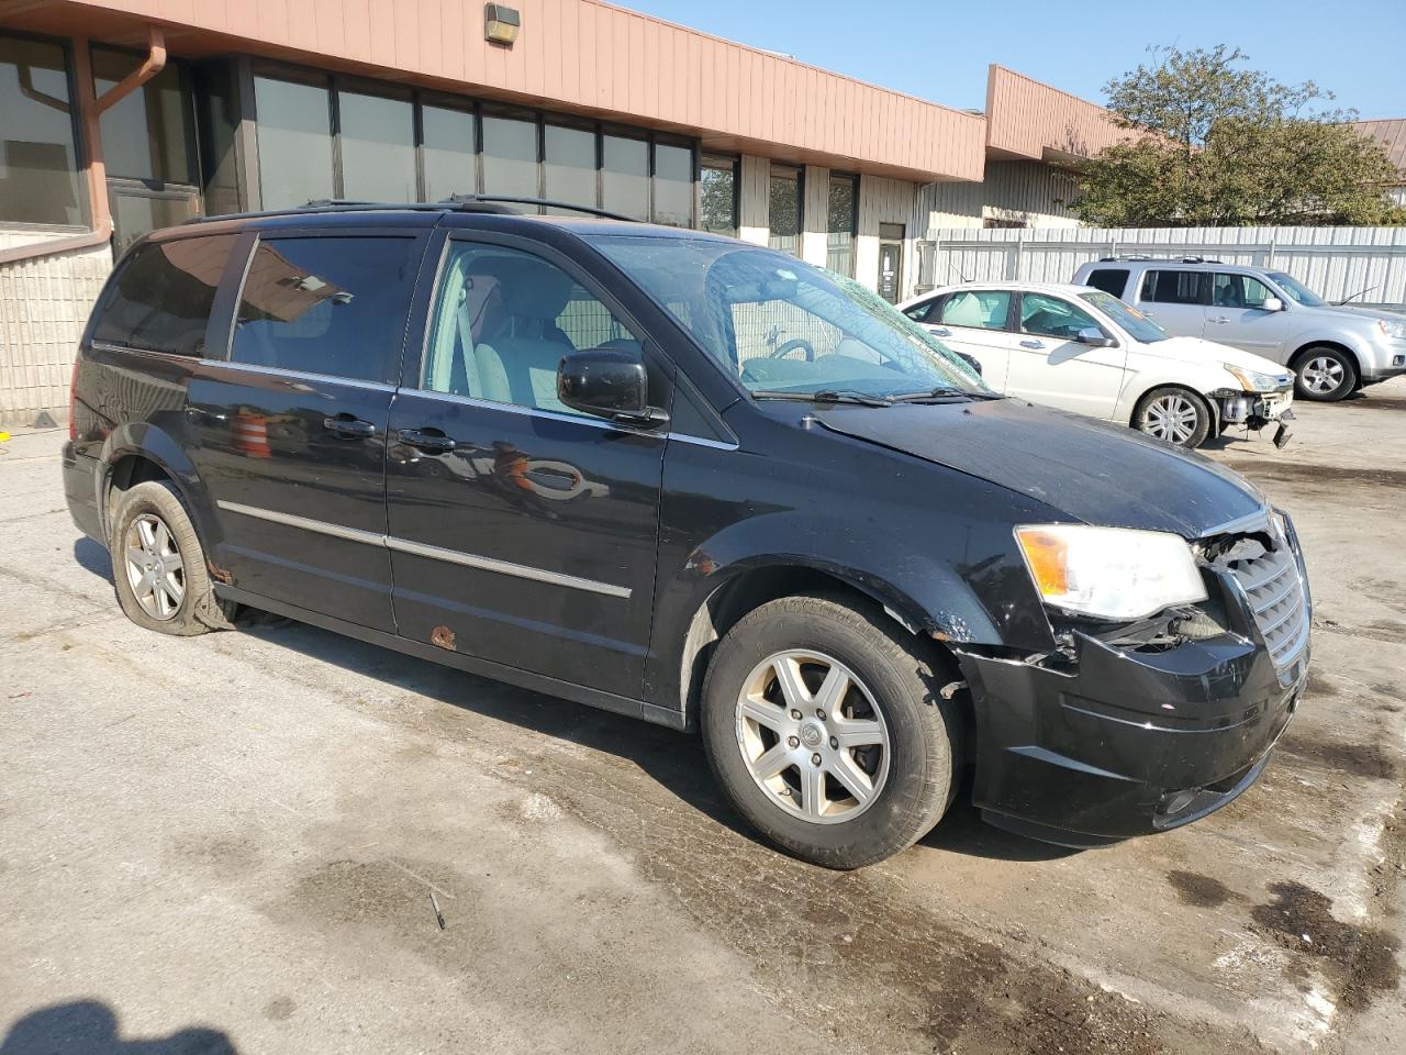
[[[1406,378],[1296,411],[1209,452],[1315,592],[1260,784],[1087,852],[959,806],[853,874],[756,843],[695,738],[299,625],[139,630],[62,435],[17,436],[0,1052],[1400,1051]]]

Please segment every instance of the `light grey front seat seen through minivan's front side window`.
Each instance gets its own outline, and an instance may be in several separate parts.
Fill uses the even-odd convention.
[[[557,318],[571,298],[571,279],[537,260],[498,260],[494,271],[503,318],[474,347],[484,398],[567,411],[557,398],[557,367],[575,346]]]

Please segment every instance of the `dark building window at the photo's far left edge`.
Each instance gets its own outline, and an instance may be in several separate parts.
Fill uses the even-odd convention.
[[[67,52],[0,37],[0,219],[84,222]]]

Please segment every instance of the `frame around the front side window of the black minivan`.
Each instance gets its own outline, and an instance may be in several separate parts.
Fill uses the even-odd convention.
[[[498,402],[495,399],[482,399],[474,395],[458,395],[456,392],[440,392],[433,388],[426,388],[425,371],[430,364],[430,336],[434,332],[434,311],[439,307],[440,288],[444,283],[444,269],[449,266],[450,255],[454,252],[454,246],[465,243],[513,249],[527,253],[529,256],[534,256],[543,263],[551,264],[553,267],[564,271],[574,283],[595,297],[631,335],[636,336],[636,339],[638,339],[640,357],[644,362],[645,373],[648,374],[650,405],[664,409],[666,414],[672,414],[673,392],[678,388],[678,384],[673,380],[676,369],[673,362],[654,340],[650,331],[640,322],[638,316],[626,308],[620,298],[616,297],[609,287],[602,284],[595,274],[578,264],[569,256],[558,252],[544,242],[538,242],[523,235],[510,235],[498,231],[482,231],[464,226],[449,229],[440,228],[427,246],[426,252],[433,255],[436,262],[433,269],[426,267],[425,263],[420,264],[420,277],[416,286],[416,294],[411,301],[411,318],[409,325],[406,326],[406,354],[402,354],[401,357],[401,388],[415,392],[416,395],[425,395],[432,399],[450,399],[467,407],[482,407],[509,414],[526,414],[551,421],[583,422],[612,432],[628,432],[631,435],[638,433],[645,436],[658,436],[659,440],[665,439],[668,429],[636,428],[624,422],[596,418],[583,412],[562,414],[560,411],[541,409],[537,407],[523,407],[522,404]],[[655,398],[657,388],[662,392],[664,399]]]

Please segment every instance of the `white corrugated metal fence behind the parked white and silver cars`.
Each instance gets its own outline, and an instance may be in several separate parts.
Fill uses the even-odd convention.
[[[1288,271],[1329,301],[1406,308],[1406,228],[941,228],[920,242],[920,288],[960,281],[1067,283],[1104,256],[1205,256]]]

